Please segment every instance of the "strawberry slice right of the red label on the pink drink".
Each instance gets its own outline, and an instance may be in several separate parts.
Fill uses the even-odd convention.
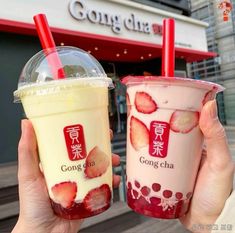
[[[199,112],[176,110],[170,119],[171,130],[176,133],[188,133],[198,125]]]

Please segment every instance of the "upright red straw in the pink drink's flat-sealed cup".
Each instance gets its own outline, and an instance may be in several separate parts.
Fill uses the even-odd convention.
[[[174,77],[175,71],[175,20],[163,20],[162,76]]]

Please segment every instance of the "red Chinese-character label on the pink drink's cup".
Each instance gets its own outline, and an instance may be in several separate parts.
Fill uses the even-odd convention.
[[[167,122],[152,121],[150,124],[149,154],[165,158],[168,151],[170,126]]]

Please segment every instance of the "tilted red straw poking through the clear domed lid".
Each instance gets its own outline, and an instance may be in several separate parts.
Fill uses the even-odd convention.
[[[51,34],[50,27],[47,22],[46,15],[38,14],[33,17],[35,26],[38,32],[38,36],[42,45],[42,48],[52,52],[47,55],[47,60],[50,65],[52,75],[54,79],[65,78],[65,72],[63,70],[63,65],[59,58],[58,53],[56,52],[56,45]]]

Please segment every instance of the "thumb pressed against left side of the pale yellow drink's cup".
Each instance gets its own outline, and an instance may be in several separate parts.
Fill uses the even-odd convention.
[[[21,131],[18,146],[18,179],[20,186],[35,181],[41,174],[36,136],[29,120],[21,121]]]

